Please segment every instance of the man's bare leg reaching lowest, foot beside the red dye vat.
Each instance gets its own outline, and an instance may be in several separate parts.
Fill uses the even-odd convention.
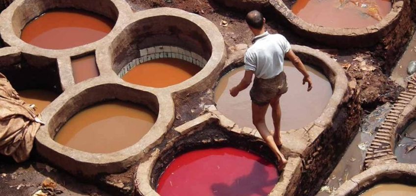
[[[279,148],[276,146],[273,136],[272,134],[270,134],[269,129],[267,128],[266,122],[264,120],[268,107],[268,105],[260,106],[255,103],[252,103],[253,124],[256,126],[257,130],[259,131],[261,137],[266,142],[266,144],[275,153],[279,161],[279,167],[277,168],[277,170],[281,172],[285,168],[287,160],[285,156],[280,152]]]

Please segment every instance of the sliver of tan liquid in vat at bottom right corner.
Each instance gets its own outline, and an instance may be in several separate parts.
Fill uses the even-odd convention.
[[[360,196],[416,196],[416,187],[404,184],[379,184]]]

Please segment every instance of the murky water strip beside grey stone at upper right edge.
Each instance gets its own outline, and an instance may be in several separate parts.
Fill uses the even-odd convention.
[[[416,32],[413,35],[406,51],[403,53],[402,58],[397,63],[396,67],[394,67],[390,76],[392,80],[394,80],[402,87],[407,87],[405,78],[409,76],[407,73],[407,67],[411,61],[416,61]]]

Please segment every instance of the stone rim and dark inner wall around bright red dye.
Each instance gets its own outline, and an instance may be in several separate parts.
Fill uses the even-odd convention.
[[[216,126],[215,126],[216,125]],[[210,126],[215,126],[213,129],[221,129],[213,133],[206,133]],[[265,143],[253,132],[238,132],[235,129],[230,129],[227,122],[221,121],[218,116],[207,113],[199,116],[196,119],[182,124],[175,128],[180,135],[173,138],[165,148],[155,149],[151,156],[139,165],[135,176],[136,196],[159,196],[156,191],[156,185],[158,177],[157,174],[163,171],[165,167],[172,161],[174,157],[167,155],[175,151],[175,153],[181,153],[191,151],[189,149],[189,142],[186,139],[195,138],[193,141],[196,146],[200,147],[218,147],[218,146],[231,146],[231,147],[245,147],[256,153],[256,151],[263,156],[270,156],[270,150],[265,146]],[[237,132],[236,132],[237,131]],[[202,136],[207,134],[207,137]],[[212,135],[209,135],[212,134]],[[248,145],[238,145],[234,142]],[[192,140],[192,139],[191,139]],[[231,144],[231,145],[230,145]],[[249,147],[246,147],[249,146]],[[254,149],[253,149],[254,148]],[[166,158],[168,156],[168,158]],[[170,159],[170,160],[168,160]],[[157,165],[159,163],[159,165]],[[160,164],[161,163],[161,164]],[[157,165],[157,166],[156,166]],[[285,171],[281,174],[279,182],[273,188],[269,196],[291,196],[293,195],[293,185],[300,178],[302,170],[301,159],[297,156],[291,156],[288,158],[288,164]]]

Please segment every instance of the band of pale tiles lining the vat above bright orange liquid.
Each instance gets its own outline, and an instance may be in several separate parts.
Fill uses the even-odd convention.
[[[207,64],[207,60],[201,55],[174,46],[156,46],[147,49],[140,49],[140,57],[133,59],[125,65],[118,73],[119,77],[123,77],[134,67],[145,63],[147,61],[161,59],[161,58],[177,58],[192,63],[200,68],[204,68]]]

